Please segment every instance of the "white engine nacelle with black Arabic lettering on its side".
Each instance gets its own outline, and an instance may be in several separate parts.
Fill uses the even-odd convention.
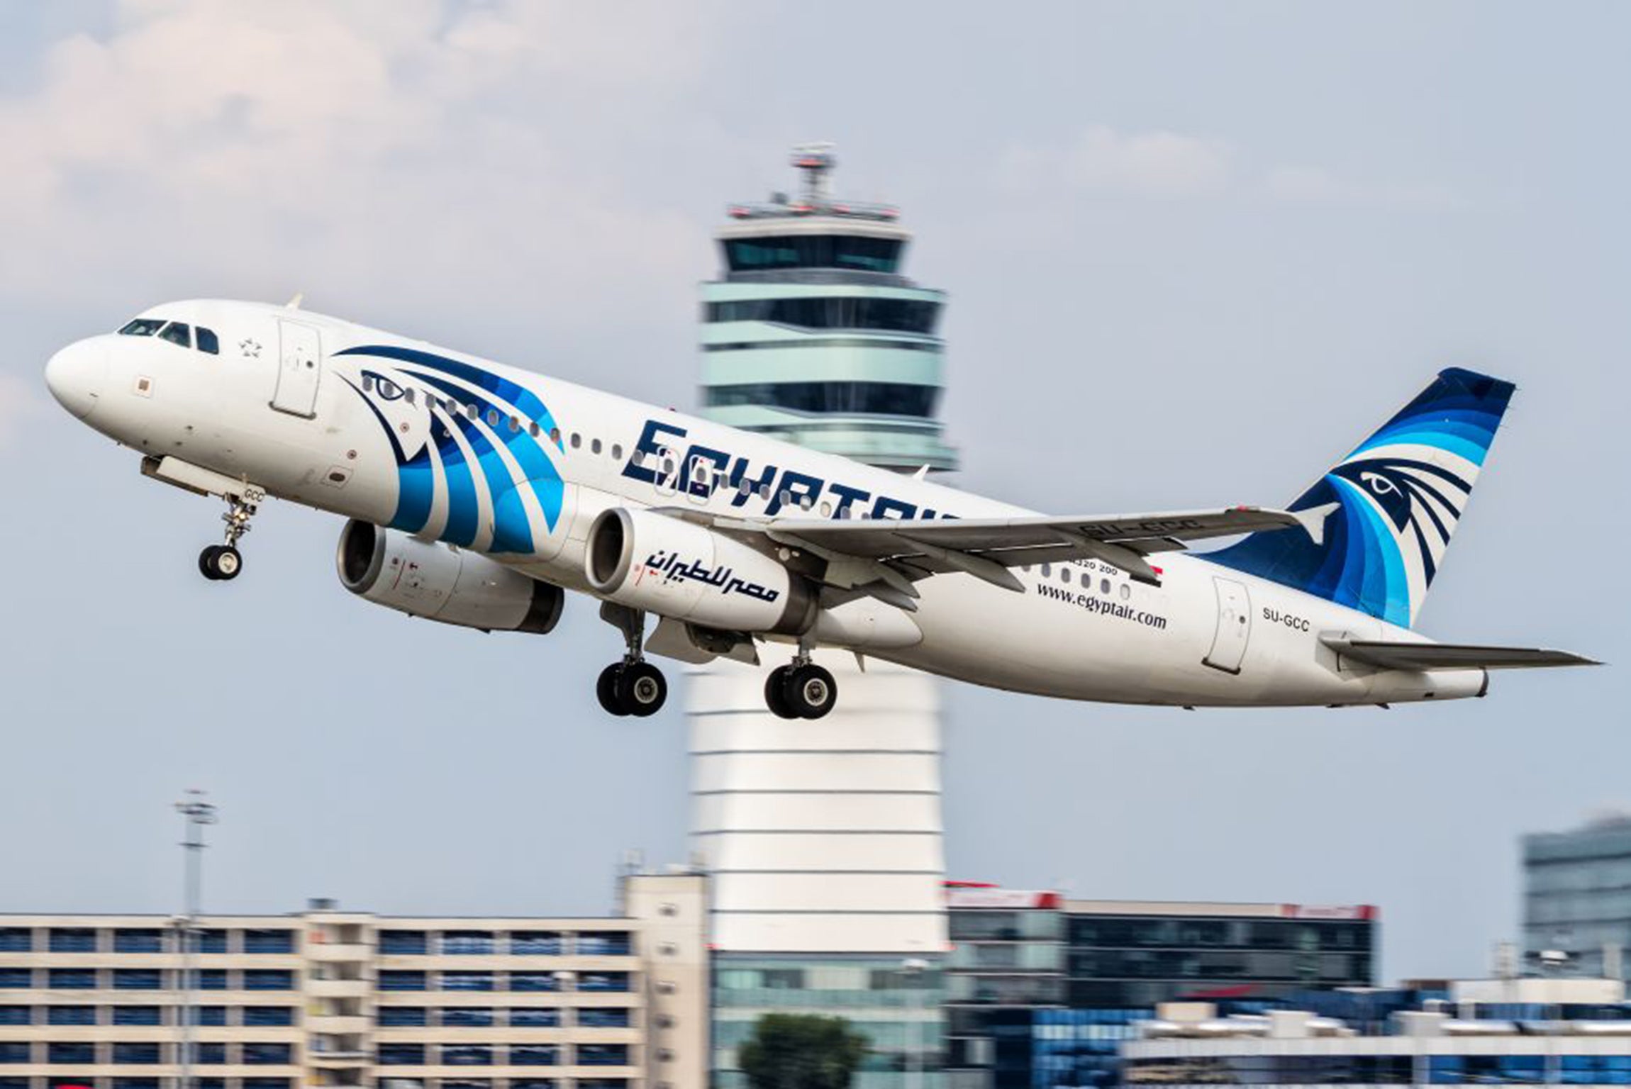
[[[775,558],[651,510],[602,510],[584,575],[618,605],[706,628],[799,634],[816,623],[811,585]]]

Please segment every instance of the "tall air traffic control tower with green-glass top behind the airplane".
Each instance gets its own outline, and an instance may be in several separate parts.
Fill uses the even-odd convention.
[[[944,293],[902,276],[897,212],[833,196],[830,145],[796,148],[796,196],[731,205],[703,284],[703,412],[913,473],[949,470],[935,417]],[[692,841],[711,874],[713,1066],[765,1012],[835,1014],[871,1038],[858,1089],[933,1089],[948,949],[939,696],[918,672],[817,652],[824,719],[765,709],[768,668],[690,677]]]

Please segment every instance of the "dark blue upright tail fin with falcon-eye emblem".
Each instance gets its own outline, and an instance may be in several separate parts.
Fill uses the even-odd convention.
[[[1452,367],[1290,505],[1324,533],[1253,533],[1212,562],[1409,626],[1515,386]]]

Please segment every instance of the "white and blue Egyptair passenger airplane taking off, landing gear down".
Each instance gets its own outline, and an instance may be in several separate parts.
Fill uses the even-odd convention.
[[[347,518],[367,602],[546,634],[566,592],[623,655],[605,711],[649,716],[648,659],[758,664],[765,704],[819,719],[819,647],[975,685],[1165,706],[1390,706],[1483,696],[1489,672],[1595,665],[1414,631],[1514,385],[1440,372],[1287,509],[1039,515],[672,409],[298,308],[153,306],[46,365],[55,399],[227,504],[207,579],[235,579],[267,497]],[[1197,541],[1238,538],[1220,551]],[[654,619],[648,634],[648,619]]]

